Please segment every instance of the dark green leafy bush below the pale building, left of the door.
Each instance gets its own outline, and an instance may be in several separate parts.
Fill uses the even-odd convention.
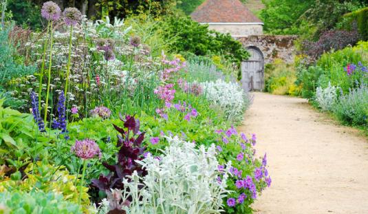
[[[166,38],[175,38],[171,49],[175,52],[192,52],[197,56],[221,55],[233,63],[240,63],[249,57],[239,41],[230,34],[208,30],[189,17],[167,17],[162,23]]]

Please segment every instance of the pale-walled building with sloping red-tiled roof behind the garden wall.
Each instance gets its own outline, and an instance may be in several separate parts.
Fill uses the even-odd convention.
[[[239,0],[206,0],[191,17],[208,24],[211,30],[234,37],[263,34],[263,22]]]

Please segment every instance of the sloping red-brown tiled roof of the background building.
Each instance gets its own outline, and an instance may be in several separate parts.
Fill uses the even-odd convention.
[[[191,17],[199,23],[263,23],[239,0],[206,0]]]

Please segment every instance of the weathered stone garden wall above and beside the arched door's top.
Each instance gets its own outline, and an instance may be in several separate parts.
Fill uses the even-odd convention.
[[[295,56],[294,41],[297,36],[235,36],[244,47],[255,46],[263,53],[265,63],[272,63],[274,58],[281,58],[285,63],[293,63]]]

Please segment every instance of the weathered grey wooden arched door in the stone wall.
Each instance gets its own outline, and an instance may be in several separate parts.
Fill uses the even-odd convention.
[[[250,53],[248,61],[241,63],[241,83],[250,91],[264,89],[264,58],[258,47],[246,48]]]

